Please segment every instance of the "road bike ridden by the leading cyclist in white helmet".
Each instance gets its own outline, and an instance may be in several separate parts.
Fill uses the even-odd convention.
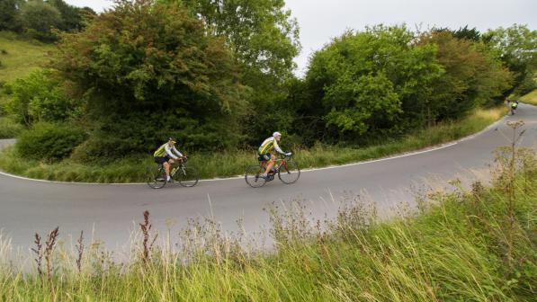
[[[276,159],[271,172],[268,173],[266,177],[263,177],[267,164],[268,161],[260,161],[259,164],[246,167],[246,183],[252,188],[260,188],[263,187],[266,182],[272,182],[276,174],[278,174],[280,181],[285,184],[291,184],[299,180],[299,164],[292,160],[291,155]]]

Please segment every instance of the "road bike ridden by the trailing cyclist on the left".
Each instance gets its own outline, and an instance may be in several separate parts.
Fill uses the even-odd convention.
[[[183,187],[193,187],[200,180],[198,172],[191,166],[186,165],[187,157],[183,157],[176,164],[170,165],[172,182],[179,182]],[[152,189],[161,189],[166,186],[166,170],[162,164],[148,167],[148,186]]]

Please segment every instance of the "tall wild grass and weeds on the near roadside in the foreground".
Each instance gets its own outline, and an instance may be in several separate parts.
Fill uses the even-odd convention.
[[[520,125],[512,125],[519,127]],[[159,236],[144,213],[127,260],[61,227],[36,235],[31,258],[0,242],[6,301],[533,301],[537,294],[537,166],[533,151],[497,150],[492,186],[428,191],[380,220],[349,196],[331,220],[305,203],[267,209],[274,244],[225,234],[210,218]],[[140,216],[141,219],[141,216]],[[256,236],[258,237],[258,236]],[[177,241],[175,241],[177,240]],[[177,243],[177,244],[175,244]],[[8,258],[10,257],[10,258]],[[22,257],[22,260],[21,260]],[[20,270],[16,263],[32,264]]]

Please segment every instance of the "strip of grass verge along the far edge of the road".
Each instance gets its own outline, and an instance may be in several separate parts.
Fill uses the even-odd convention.
[[[417,131],[398,140],[370,147],[332,147],[318,145],[309,149],[293,150],[300,168],[322,167],[330,164],[348,164],[362,160],[409,152],[424,147],[463,138],[506,114],[505,108],[479,109],[457,122],[442,123]],[[248,164],[255,164],[255,151],[222,151],[198,153],[189,162],[201,178],[228,177],[245,172]],[[112,164],[79,164],[67,159],[49,164],[35,160],[23,160],[13,147],[0,153],[0,169],[25,177],[63,182],[144,182],[146,168],[153,164],[148,155],[130,156]]]

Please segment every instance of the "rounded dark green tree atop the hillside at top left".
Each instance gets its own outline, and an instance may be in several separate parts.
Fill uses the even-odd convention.
[[[61,25],[61,13],[58,9],[42,0],[31,0],[21,7],[22,26],[31,38],[41,41],[57,39],[53,28]]]

